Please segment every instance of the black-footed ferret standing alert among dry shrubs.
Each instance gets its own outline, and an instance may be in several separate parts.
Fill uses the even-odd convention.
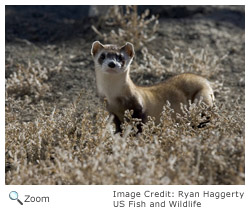
[[[175,113],[182,113],[180,104],[193,103],[200,98],[208,106],[213,105],[213,90],[205,78],[194,74],[180,74],[168,80],[152,85],[137,86],[129,75],[130,64],[135,55],[133,45],[126,43],[122,47],[103,45],[99,41],[92,44],[97,89],[100,96],[107,99],[107,109],[114,115],[116,132],[121,132],[125,110],[133,110],[133,118],[155,117],[160,121],[163,106],[168,100]],[[138,126],[141,132],[141,125]]]

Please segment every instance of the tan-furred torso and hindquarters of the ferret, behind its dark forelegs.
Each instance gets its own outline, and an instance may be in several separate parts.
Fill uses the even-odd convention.
[[[148,115],[155,117],[157,123],[166,101],[176,113],[182,113],[180,103],[188,105],[189,101],[194,103],[202,98],[211,107],[214,101],[209,82],[194,74],[180,74],[158,85],[136,89],[142,95]]]

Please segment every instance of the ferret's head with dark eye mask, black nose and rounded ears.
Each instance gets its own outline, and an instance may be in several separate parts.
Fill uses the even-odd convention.
[[[127,42],[124,46],[103,45],[99,41],[92,44],[91,54],[95,68],[101,73],[120,74],[129,71],[134,57],[134,47]]]

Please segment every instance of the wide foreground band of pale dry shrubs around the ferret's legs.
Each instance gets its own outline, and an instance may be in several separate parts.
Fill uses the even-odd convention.
[[[6,183],[244,184],[244,113],[231,105],[191,104],[175,122],[168,104],[160,124],[150,119],[136,136],[136,120],[120,136],[102,109],[78,116],[74,105],[28,123],[7,112]],[[192,127],[203,111],[211,122]]]

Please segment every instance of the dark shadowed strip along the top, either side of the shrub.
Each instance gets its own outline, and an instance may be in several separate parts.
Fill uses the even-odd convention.
[[[244,6],[139,6],[160,19],[210,19],[217,25],[245,28]],[[92,37],[90,6],[6,6],[6,41],[54,42],[72,37]]]

